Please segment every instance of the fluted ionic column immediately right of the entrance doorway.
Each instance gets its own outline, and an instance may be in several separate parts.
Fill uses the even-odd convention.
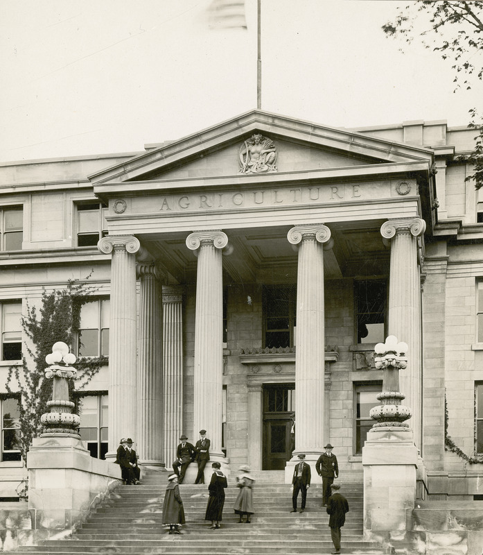
[[[324,246],[331,248],[326,225],[299,225],[287,235],[299,245],[297,270],[297,348],[295,351],[294,458],[317,460],[323,451],[324,399]]]

